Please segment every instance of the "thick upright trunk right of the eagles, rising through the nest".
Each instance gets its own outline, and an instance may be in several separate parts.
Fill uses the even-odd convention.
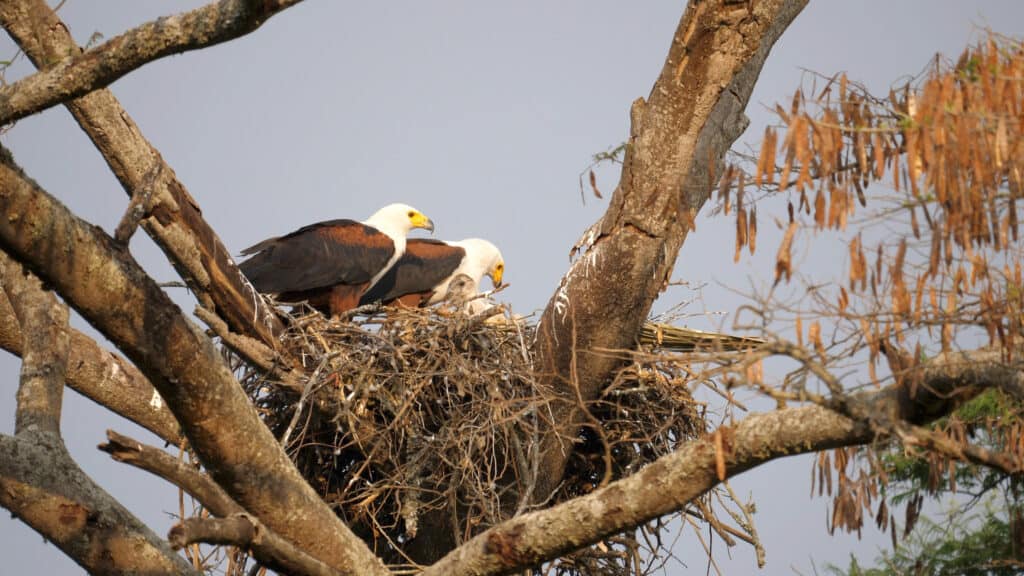
[[[648,100],[634,102],[618,187],[538,330],[539,368],[569,401],[554,418],[565,427],[546,435],[536,500],[561,482],[581,418],[573,388],[594,400],[620,365],[592,351],[633,347],[725,153],[746,126],[742,111],[768,51],[805,4],[691,2]]]

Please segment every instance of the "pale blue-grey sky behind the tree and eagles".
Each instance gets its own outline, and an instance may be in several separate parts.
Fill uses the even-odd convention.
[[[80,42],[201,2],[69,0],[61,15]],[[610,2],[328,2],[309,0],[246,38],[166,58],[117,82],[113,90],[203,207],[224,243],[239,250],[311,221],[365,218],[402,201],[433,218],[436,237],[485,237],[498,244],[511,287],[501,297],[516,312],[543,308],[565,271],[568,249],[606,207],[578,175],[596,152],[621,142],[630,102],[645,96],[683,10],[680,1]],[[817,0],[776,45],[748,114],[746,137],[770,121],[766,109],[787,101],[801,69],[846,71],[877,91],[916,74],[935,52],[955,57],[976,26],[1020,34],[1024,4],[1012,0],[851,2]],[[14,48],[0,39],[0,59]],[[24,75],[23,61],[7,80]],[[753,134],[753,136],[751,136]],[[82,216],[112,230],[126,197],[98,153],[63,109],[23,120],[2,136],[22,165]],[[614,170],[600,171],[605,193]],[[607,198],[607,194],[605,195]],[[770,227],[763,227],[769,229]],[[700,310],[731,312],[745,288],[771,274],[770,230],[759,257],[732,259],[733,227],[701,220],[675,274],[708,282]],[[136,257],[161,281],[174,279],[144,235]],[[178,301],[190,310],[183,293]],[[669,292],[663,311],[685,297]],[[692,319],[718,327],[722,318]],[[81,326],[79,322],[79,326]],[[4,355],[0,431],[13,427],[17,362]],[[158,533],[173,523],[176,493],[95,450],[103,429],[152,437],[69,392],[63,429],[82,467]],[[811,559],[873,557],[888,536],[865,530],[825,533],[826,501],[809,499],[810,461],[791,458],[734,482],[753,493],[768,552],[765,574],[812,574]],[[756,570],[739,545],[728,574]],[[8,515],[0,551],[12,574],[80,570]],[[677,548],[703,574],[690,534]]]

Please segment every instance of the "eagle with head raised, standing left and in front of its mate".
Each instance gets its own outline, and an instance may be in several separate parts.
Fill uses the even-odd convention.
[[[361,222],[328,220],[264,240],[242,251],[252,257],[239,269],[259,292],[337,316],[398,261],[416,228],[433,232],[434,224],[411,206],[390,204]]]

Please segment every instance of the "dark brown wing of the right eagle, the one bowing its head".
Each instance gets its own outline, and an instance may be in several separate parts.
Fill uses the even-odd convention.
[[[439,240],[416,239],[406,243],[406,253],[359,300],[359,304],[385,303],[407,294],[433,293],[434,287],[452,276],[466,250]]]

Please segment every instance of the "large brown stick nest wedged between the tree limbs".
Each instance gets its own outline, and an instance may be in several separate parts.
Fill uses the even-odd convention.
[[[538,446],[551,408],[577,400],[542,387],[532,366],[536,327],[493,323],[504,318],[392,308],[345,322],[294,316],[282,345],[309,375],[301,397],[239,365],[257,409],[305,478],[392,564],[411,564],[404,550],[417,536],[457,544],[528,511],[535,479],[548,474]],[[544,505],[633,474],[702,434],[684,366],[624,355],[604,396],[587,406],[562,488]],[[659,541],[643,534],[658,526],[543,572],[646,572],[653,554],[640,551],[654,546],[638,539]]]

